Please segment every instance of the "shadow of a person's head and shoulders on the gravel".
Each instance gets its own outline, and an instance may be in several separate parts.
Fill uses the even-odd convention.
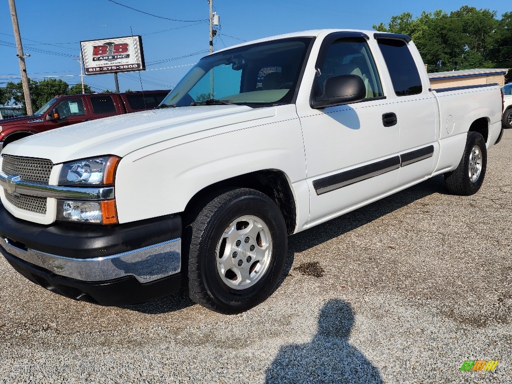
[[[349,343],[354,310],[344,300],[328,301],[310,343],[281,347],[266,371],[267,384],[383,384],[378,368]]]

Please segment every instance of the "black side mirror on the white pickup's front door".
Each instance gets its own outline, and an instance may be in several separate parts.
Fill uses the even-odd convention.
[[[361,101],[366,97],[365,83],[356,75],[340,75],[325,80],[324,91],[311,103],[315,109]]]

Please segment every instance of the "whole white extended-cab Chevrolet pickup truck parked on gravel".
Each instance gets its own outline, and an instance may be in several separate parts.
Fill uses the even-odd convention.
[[[157,110],[4,148],[0,251],[102,305],[186,285],[238,313],[270,295],[287,236],[443,174],[476,193],[497,85],[433,91],[409,36],[315,30],[202,58]]]

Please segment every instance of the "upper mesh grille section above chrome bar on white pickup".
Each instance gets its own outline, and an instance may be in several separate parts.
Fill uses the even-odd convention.
[[[22,180],[48,184],[53,168],[53,163],[50,160],[10,155],[5,155],[3,159],[2,172],[6,175],[16,175]]]

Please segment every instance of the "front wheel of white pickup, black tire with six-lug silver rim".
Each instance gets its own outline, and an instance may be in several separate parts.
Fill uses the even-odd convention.
[[[281,211],[268,196],[228,190],[204,206],[189,230],[188,290],[196,303],[240,313],[278,284],[288,239]]]

